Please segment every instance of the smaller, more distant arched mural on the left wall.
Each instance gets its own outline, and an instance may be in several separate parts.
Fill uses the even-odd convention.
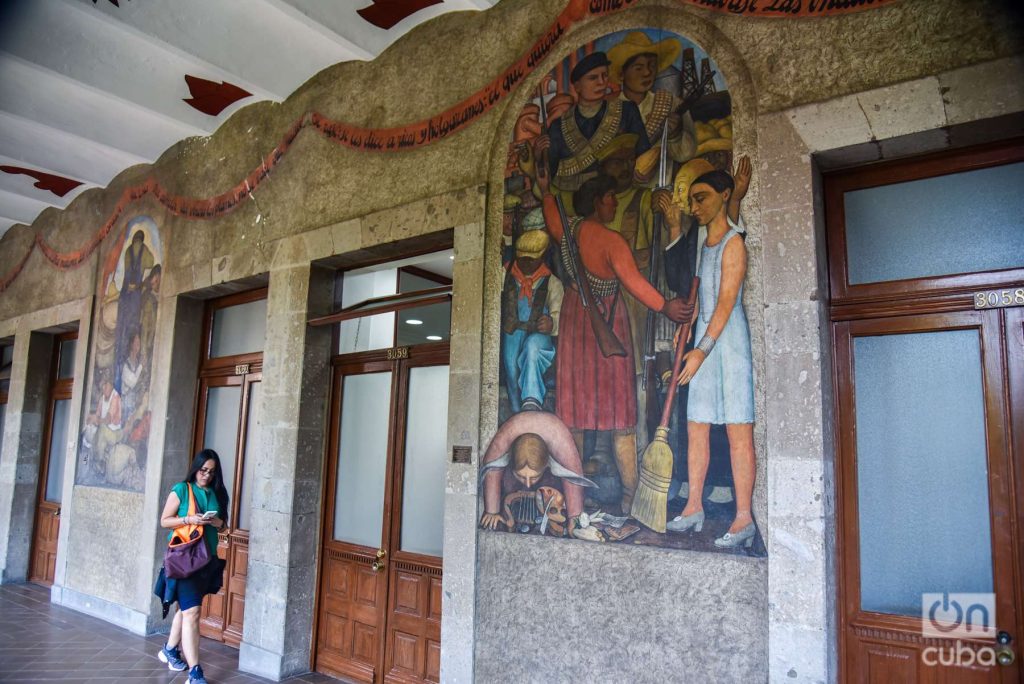
[[[103,264],[77,484],[142,491],[163,251],[148,216],[126,222]]]

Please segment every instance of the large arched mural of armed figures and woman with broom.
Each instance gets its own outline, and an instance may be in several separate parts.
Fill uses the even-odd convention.
[[[674,33],[546,75],[505,173],[499,429],[481,527],[763,555],[742,305],[746,158],[729,91]]]

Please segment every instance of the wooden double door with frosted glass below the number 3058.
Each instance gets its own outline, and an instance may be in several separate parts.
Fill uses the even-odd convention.
[[[954,346],[948,348],[963,350],[967,358],[950,357],[945,366],[930,364],[936,377],[927,379],[920,377],[925,374],[919,374],[918,382],[907,382],[912,371],[888,379],[870,377],[871,373],[893,370],[884,358],[888,353],[884,347],[890,346],[888,340],[892,341],[894,354],[914,345],[919,345],[922,354],[928,354],[933,342],[943,348],[946,337],[955,340]],[[848,322],[836,327],[839,465],[843,485],[840,539],[846,616],[843,661],[847,681],[1017,682],[1020,679],[1017,664],[996,662],[996,651],[1001,645],[985,638],[980,630],[982,609],[994,609],[995,619],[989,625],[993,628],[991,634],[1002,632],[1012,639],[1021,634],[1021,597],[1015,581],[1020,547],[1013,522],[1018,507],[1011,486],[1015,467],[1019,471],[1021,461],[1013,457],[1006,429],[1009,407],[1005,348],[999,311],[904,315]],[[874,368],[858,369],[858,362]],[[905,356],[890,362],[913,367],[913,361]],[[921,370],[928,373],[928,368]],[[941,376],[945,372],[955,377],[944,380]],[[888,389],[886,382],[892,383]],[[923,387],[910,386],[918,383]],[[929,392],[936,405],[945,403],[950,415],[957,416],[956,425],[932,425],[930,429],[952,440],[962,439],[965,448],[961,458],[899,463],[904,460],[905,452],[899,446],[899,435],[894,433],[903,432],[904,428],[878,414],[906,415],[896,404],[921,400],[924,397],[915,395],[919,390]],[[891,396],[884,396],[887,393]],[[943,393],[947,394],[945,400],[938,396]],[[886,425],[890,428],[888,434],[879,434],[880,427]],[[907,433],[914,429],[928,428],[924,425],[905,428]],[[888,440],[895,444],[893,453],[880,453],[880,445]],[[892,463],[880,466],[880,461]],[[901,473],[902,468],[918,472]],[[924,472],[929,468],[938,472],[929,476]],[[893,478],[887,493],[879,490],[887,486],[880,481],[881,470]],[[905,486],[907,482],[909,486]],[[911,489],[919,486],[926,494],[915,498]],[[965,491],[971,488],[976,491]],[[934,496],[943,491],[946,496]],[[956,511],[948,523],[937,519],[943,507]],[[887,530],[887,525],[913,531],[901,537],[899,531]],[[940,526],[942,529],[936,528]],[[916,550],[920,565],[914,567],[912,559],[893,560],[900,555],[893,553],[893,545],[899,540],[912,546],[923,539],[937,543],[920,545],[924,547]],[[974,559],[964,562],[965,556]],[[957,557],[961,561],[955,560]],[[891,567],[879,568],[887,562]],[[916,587],[915,596],[922,596],[921,603],[894,596],[902,591],[894,576],[901,572],[920,575],[905,579],[924,583]],[[927,584],[925,578],[942,580]],[[935,606],[925,605],[934,603],[933,599],[925,598],[925,593],[948,594],[948,599],[936,600],[950,601],[948,605],[953,610],[957,609],[957,602],[965,603],[957,594],[977,594],[978,598],[969,599],[975,608],[963,606],[978,618],[978,624],[970,628],[965,625],[971,634],[957,633],[945,638],[942,632],[946,628],[929,630],[928,608]],[[992,605],[986,605],[989,599],[983,598],[983,594],[994,595]],[[936,609],[941,615],[945,606]]]

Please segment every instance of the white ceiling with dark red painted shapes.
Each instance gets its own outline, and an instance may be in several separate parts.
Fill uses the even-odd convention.
[[[0,234],[326,67],[495,2],[0,0]]]

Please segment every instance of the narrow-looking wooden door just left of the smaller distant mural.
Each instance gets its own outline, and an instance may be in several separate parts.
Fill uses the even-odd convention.
[[[68,448],[68,419],[74,386],[75,341],[78,332],[54,338],[50,370],[49,401],[39,462],[39,485],[33,525],[29,581],[52,585],[56,571],[57,537],[60,533],[60,503]]]

